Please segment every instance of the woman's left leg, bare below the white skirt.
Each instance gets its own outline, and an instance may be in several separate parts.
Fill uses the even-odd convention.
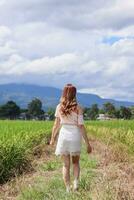
[[[65,186],[70,185],[70,155],[62,155],[63,160],[63,180]]]

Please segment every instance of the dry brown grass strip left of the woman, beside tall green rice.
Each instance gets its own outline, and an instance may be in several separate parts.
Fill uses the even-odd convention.
[[[21,176],[16,176],[11,181],[1,185],[0,200],[8,200],[8,199],[15,200],[25,185],[30,187],[33,181],[39,176],[43,176],[44,179],[47,179],[47,177],[49,178],[50,174],[52,175],[52,173],[54,172],[44,171],[43,173],[42,171],[38,170],[38,167],[41,164],[53,160],[52,151],[53,148],[50,147],[49,145],[37,146],[34,155],[35,159],[32,162],[31,171],[25,171]]]

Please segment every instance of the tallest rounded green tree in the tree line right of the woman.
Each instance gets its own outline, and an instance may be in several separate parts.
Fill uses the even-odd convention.
[[[106,114],[109,115],[109,117],[115,116],[116,109],[115,109],[115,106],[112,103],[110,103],[110,102],[104,103],[103,104],[103,110]]]

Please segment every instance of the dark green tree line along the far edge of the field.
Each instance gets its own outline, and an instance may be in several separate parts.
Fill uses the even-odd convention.
[[[115,107],[114,104],[106,102],[101,108],[97,104],[91,107],[84,107],[84,118],[89,120],[96,120],[99,114],[104,114],[109,118],[117,119],[134,119],[134,106],[129,108],[125,106]],[[40,99],[35,98],[28,103],[27,108],[20,108],[16,102],[8,101],[0,106],[0,119],[18,119],[23,114],[25,119],[44,120],[48,117],[49,120],[54,119],[54,108],[49,108],[45,112],[42,108]]]

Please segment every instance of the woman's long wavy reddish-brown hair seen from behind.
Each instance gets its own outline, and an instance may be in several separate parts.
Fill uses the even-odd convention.
[[[60,113],[63,116],[69,115],[77,108],[76,87],[68,83],[65,85],[60,98]]]

